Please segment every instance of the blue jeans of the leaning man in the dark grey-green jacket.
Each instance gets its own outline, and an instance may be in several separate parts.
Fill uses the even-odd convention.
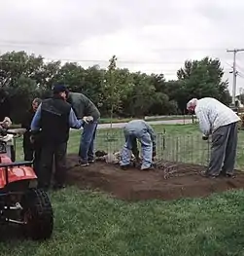
[[[97,122],[91,122],[84,125],[79,149],[79,156],[83,162],[94,160],[94,139],[96,128]]]

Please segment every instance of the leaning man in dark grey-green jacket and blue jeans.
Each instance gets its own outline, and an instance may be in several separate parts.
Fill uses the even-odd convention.
[[[100,112],[83,93],[69,92],[67,101],[72,105],[78,119],[83,119],[85,116],[90,116],[93,119],[84,125],[79,148],[80,164],[87,166],[94,162],[94,139]]]

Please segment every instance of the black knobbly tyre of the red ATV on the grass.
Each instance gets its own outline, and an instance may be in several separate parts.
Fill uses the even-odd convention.
[[[31,189],[24,195],[21,205],[24,235],[35,240],[51,238],[53,211],[48,194],[40,189]]]

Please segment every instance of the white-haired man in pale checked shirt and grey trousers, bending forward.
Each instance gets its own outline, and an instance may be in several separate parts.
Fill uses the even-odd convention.
[[[210,163],[206,177],[217,177],[220,174],[233,175],[236,148],[237,123],[240,118],[226,105],[212,97],[192,98],[187,109],[195,113],[203,139],[212,135]]]

